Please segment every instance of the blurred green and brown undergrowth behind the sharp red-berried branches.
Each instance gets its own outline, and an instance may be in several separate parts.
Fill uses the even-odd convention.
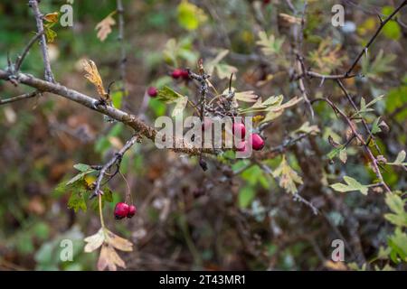
[[[149,124],[170,114],[171,109],[149,98],[147,88],[167,85],[194,95],[192,81],[173,79],[171,73],[177,68],[196,70],[200,58],[216,67],[211,81],[218,90],[228,87],[234,72],[233,87],[237,90],[254,90],[263,99],[283,94],[287,101],[300,96],[298,82],[290,79],[295,59],[293,35],[298,33],[298,25],[292,23],[296,18],[284,21],[280,14],[300,17],[302,0],[123,0],[123,43],[118,41],[118,14],[113,13],[116,1],[71,2],[73,26],[53,25],[56,36],[48,44],[55,79],[97,98],[80,64],[83,59],[93,60],[106,86],[116,81],[111,94],[115,106],[143,117]],[[377,14],[390,14],[400,2],[308,1],[303,40],[308,67],[327,74],[345,71],[377,29]],[[334,27],[331,8],[339,3],[345,7],[345,26]],[[65,4],[43,0],[40,9],[43,14],[59,12]],[[109,14],[115,24],[101,41],[95,27]],[[381,116],[389,126],[388,132],[378,134],[376,142],[391,161],[406,149],[407,29],[402,23],[406,14],[404,9],[398,16],[400,21],[386,25],[368,58],[356,67],[364,78],[344,81],[357,103],[362,97],[371,101],[385,95],[366,119],[370,124]],[[0,27],[0,66],[4,69],[7,57],[14,61],[36,31],[27,1],[3,0]],[[275,36],[267,43],[270,51],[261,50],[260,32]],[[127,55],[127,95],[120,90],[122,48]],[[224,50],[229,53],[216,59]],[[43,78],[39,45],[33,46],[21,70]],[[346,113],[352,111],[333,81],[310,79],[307,87],[309,98],[328,96]],[[0,82],[0,98],[27,91],[32,89]],[[344,175],[364,184],[374,182],[375,175],[356,144],[346,149],[345,163],[329,159],[332,146],[328,136],[345,143],[346,126],[326,104],[318,103],[314,108],[313,120],[303,103],[286,109],[266,129],[265,151],[286,144],[307,121],[318,127],[317,135],[307,135],[284,151],[291,169],[302,178],[303,183],[297,183],[298,193],[312,202],[317,215],[256,163],[222,154],[208,160],[209,170],[204,172],[195,157],[157,150],[148,140],[135,145],[125,155],[121,172],[131,188],[137,215],[114,219],[114,205],[124,200],[127,191],[119,175],[109,182],[113,201],[104,208],[107,227],[135,245],[133,252],[120,253],[127,268],[405,269],[400,258],[407,254],[406,237],[401,232],[395,242],[389,242],[396,233],[383,217],[391,210],[384,193],[344,193],[329,187],[341,182]],[[68,208],[73,189],[59,190],[58,184],[77,173],[75,163],[105,163],[130,135],[122,124],[106,123],[98,113],[48,93],[0,106],[1,270],[96,268],[98,255],[83,253],[83,238],[99,229],[97,205],[85,198],[86,211],[83,207],[78,211],[71,209],[75,206]],[[281,162],[282,154],[265,160],[273,170]],[[383,177],[394,191],[406,190],[402,168],[386,165]],[[59,257],[64,238],[74,240],[72,262],[62,262]],[[345,242],[345,264],[330,262],[334,239]]]

